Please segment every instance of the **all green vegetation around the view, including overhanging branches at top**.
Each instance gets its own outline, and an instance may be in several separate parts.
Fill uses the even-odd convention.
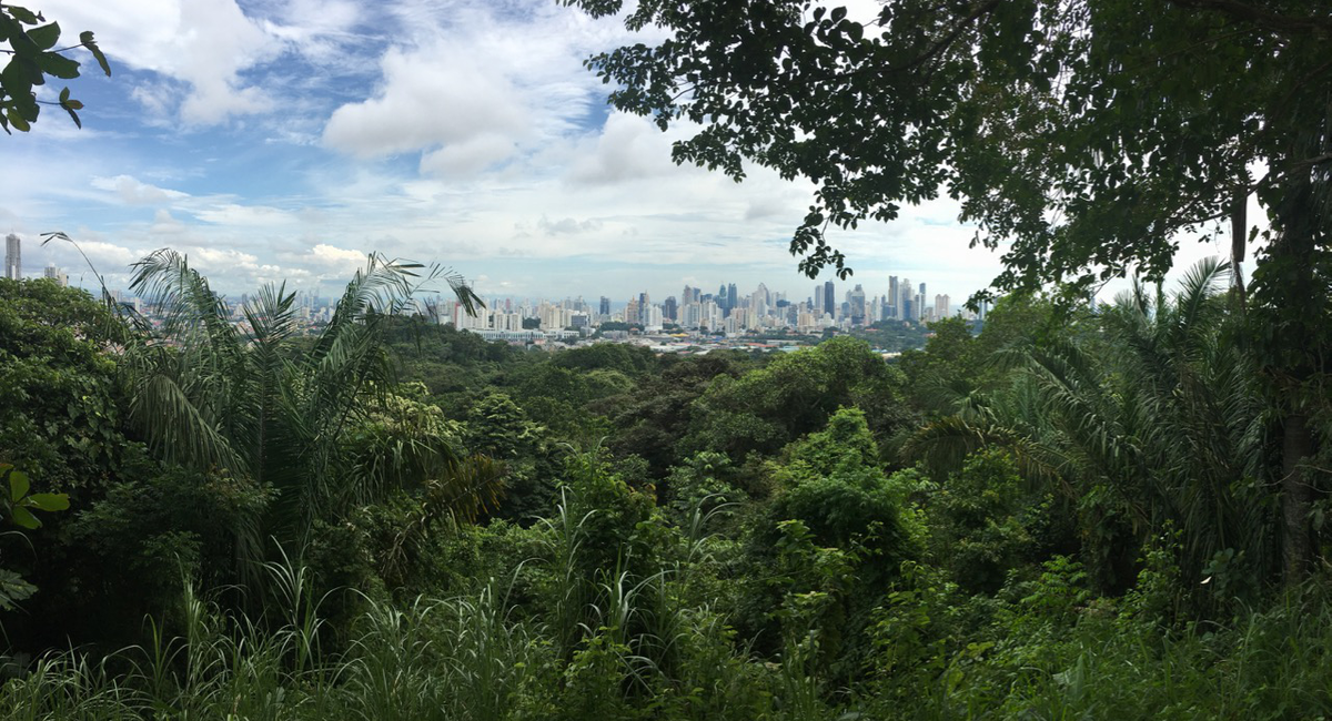
[[[17,11],[21,130],[69,68]],[[611,102],[813,181],[809,273],[943,194],[1003,253],[979,333],[894,363],[488,343],[378,255],[313,335],[170,250],[145,314],[0,281],[0,714],[1332,714],[1328,12],[630,8],[669,32],[589,60]]]

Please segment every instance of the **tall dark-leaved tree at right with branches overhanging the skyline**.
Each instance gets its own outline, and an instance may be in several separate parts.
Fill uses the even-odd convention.
[[[566,0],[593,15],[619,0]],[[903,0],[868,23],[810,0],[639,3],[670,31],[594,56],[621,110],[701,129],[677,162],[739,180],[746,161],[818,185],[791,251],[835,266],[829,226],[888,221],[947,193],[1007,247],[999,290],[1084,293],[1160,279],[1181,234],[1267,209],[1253,274],[1261,372],[1281,416],[1287,577],[1312,557],[1307,459],[1332,346],[1332,7],[1321,0]],[[1255,178],[1256,169],[1265,174]],[[1236,297],[1245,289],[1236,275]]]

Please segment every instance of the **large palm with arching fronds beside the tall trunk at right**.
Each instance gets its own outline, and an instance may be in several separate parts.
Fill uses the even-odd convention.
[[[1173,295],[1135,283],[1094,333],[998,354],[1018,371],[1010,384],[959,396],[903,452],[946,472],[1003,446],[1028,478],[1127,521],[1139,543],[1175,528],[1195,584],[1227,549],[1269,577],[1280,557],[1268,424],[1253,364],[1229,338],[1227,275],[1208,259]]]

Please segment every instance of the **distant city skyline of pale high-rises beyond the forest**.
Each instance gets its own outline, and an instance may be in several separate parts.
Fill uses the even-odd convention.
[[[23,277],[21,253],[21,239],[9,234],[5,238],[7,278]],[[68,275],[53,265],[47,266],[44,277],[63,286],[69,283]],[[143,299],[123,291],[112,291],[112,297],[140,313],[151,310]],[[241,326],[241,309],[248,302],[249,295],[242,294],[240,302],[233,303],[234,319]],[[297,317],[305,325],[328,322],[336,302],[337,298],[298,291]],[[952,315],[984,318],[984,307],[974,314],[955,306],[948,294],[930,297],[927,283],[914,283],[910,278],[896,275],[888,277],[887,287],[872,291],[867,291],[862,283],[844,283],[840,295],[838,283],[821,282],[803,299],[769,290],[765,283],[747,293],[741,293],[735,283],[721,283],[715,291],[686,285],[678,297],[669,295],[661,302],[653,301],[646,291],[627,301],[613,301],[602,295],[595,305],[582,297],[562,301],[498,297],[488,299],[476,315],[469,315],[457,301],[441,295],[417,302],[424,314],[440,323],[452,323],[457,330],[510,343],[569,343],[593,335],[609,339],[625,339],[630,335],[733,339],[786,333],[819,335],[829,329],[848,333],[884,321],[920,325]]]

